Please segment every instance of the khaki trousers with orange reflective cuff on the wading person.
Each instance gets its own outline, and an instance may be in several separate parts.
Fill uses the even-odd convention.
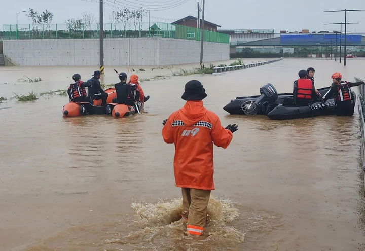
[[[182,217],[188,220],[188,232],[201,235],[207,216],[210,190],[182,188]]]

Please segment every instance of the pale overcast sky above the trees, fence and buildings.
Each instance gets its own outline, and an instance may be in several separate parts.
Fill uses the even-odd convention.
[[[5,1],[5,0],[3,0]],[[98,0],[88,0],[98,1]],[[104,0],[106,4],[114,5],[114,0]],[[109,2],[110,1],[110,2]],[[113,10],[132,5],[150,10],[150,20],[168,22],[188,15],[196,16],[197,0],[115,0],[115,7],[104,5],[104,23],[110,22],[109,14]],[[201,3],[202,0],[199,0]],[[3,24],[16,24],[16,12],[28,11],[33,8],[38,12],[45,9],[54,14],[53,23],[63,24],[69,18],[81,17],[84,11],[94,13],[99,18],[99,4],[83,0],[16,0],[8,2],[0,15],[1,30]],[[181,5],[170,8],[172,5]],[[339,25],[323,25],[345,21],[345,13],[323,13],[328,10],[365,9],[365,0],[206,0],[205,19],[221,25],[221,29],[275,29],[287,31],[340,30]],[[3,6],[4,7],[4,6]],[[166,7],[167,10],[156,8]],[[154,8],[154,9],[153,9]],[[154,10],[154,11],[153,11]],[[360,24],[348,25],[349,31],[365,32],[365,11],[348,12],[347,22]],[[172,20],[165,20],[172,19]],[[148,17],[143,18],[143,22]],[[19,24],[29,24],[31,21],[20,13]]]

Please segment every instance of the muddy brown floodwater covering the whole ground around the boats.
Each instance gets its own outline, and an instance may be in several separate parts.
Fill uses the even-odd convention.
[[[62,118],[67,96],[10,98],[66,90],[73,74],[87,80],[97,67],[1,67],[0,96],[8,100],[0,104],[0,250],[365,250],[357,106],[353,117],[289,121],[223,110],[266,83],[291,92],[308,67],[316,69],[316,88],[329,86],[335,71],[351,82],[365,79],[361,59],[346,67],[284,59],[220,76],[171,78],[176,66],[144,67],[135,71],[140,79],[165,77],[141,83],[151,96],[141,115]],[[113,69],[105,68],[104,83],[118,82]],[[42,81],[17,81],[24,75]],[[238,124],[231,145],[214,150],[216,190],[201,240],[183,233],[174,147],[161,136],[191,79],[202,82],[204,104],[224,126]]]

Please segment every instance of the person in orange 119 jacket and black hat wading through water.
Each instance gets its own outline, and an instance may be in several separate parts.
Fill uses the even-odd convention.
[[[198,236],[204,230],[210,191],[214,190],[213,143],[227,148],[237,131],[235,124],[224,128],[218,116],[203,106],[206,96],[199,81],[189,81],[181,96],[187,101],[184,107],[162,123],[164,141],[175,144],[175,184],[182,189],[187,234]]]

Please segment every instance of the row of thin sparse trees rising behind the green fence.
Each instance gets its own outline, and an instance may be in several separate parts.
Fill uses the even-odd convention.
[[[132,30],[132,25],[134,26],[134,31],[141,29],[142,27],[142,17],[147,13],[146,10],[130,10],[128,8],[123,8],[120,11],[112,11],[111,15],[109,15],[110,22],[112,23],[114,30],[117,29],[118,24],[123,24],[124,30],[129,27],[129,30]],[[38,30],[39,28],[45,30],[51,30],[51,26],[53,24],[53,13],[48,11],[47,9],[42,13],[38,13],[34,9],[29,9],[28,14],[26,15],[31,21],[33,30]],[[68,30],[91,30],[92,25],[96,23],[96,18],[94,14],[84,12],[82,14],[82,18],[71,18],[67,19],[64,24]]]

